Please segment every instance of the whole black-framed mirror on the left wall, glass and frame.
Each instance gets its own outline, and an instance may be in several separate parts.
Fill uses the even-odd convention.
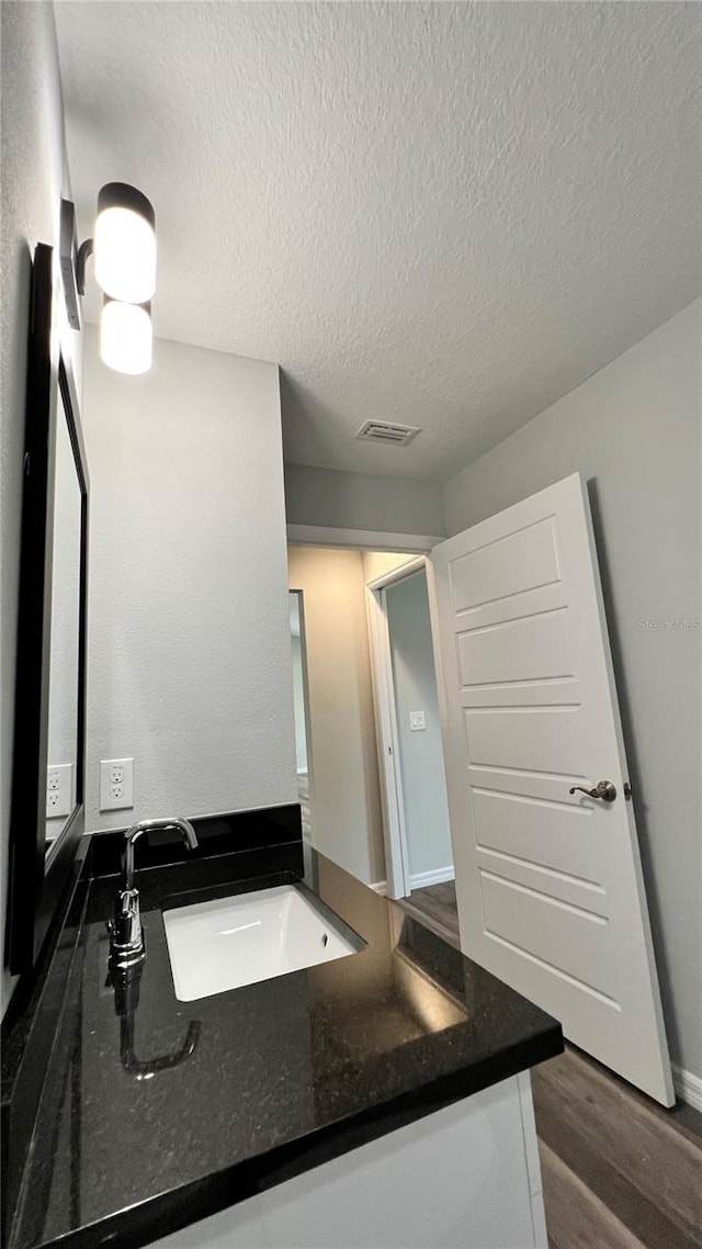
[[[31,972],[84,831],[87,471],[54,326],[54,252],[37,244],[27,338],[7,932]]]

